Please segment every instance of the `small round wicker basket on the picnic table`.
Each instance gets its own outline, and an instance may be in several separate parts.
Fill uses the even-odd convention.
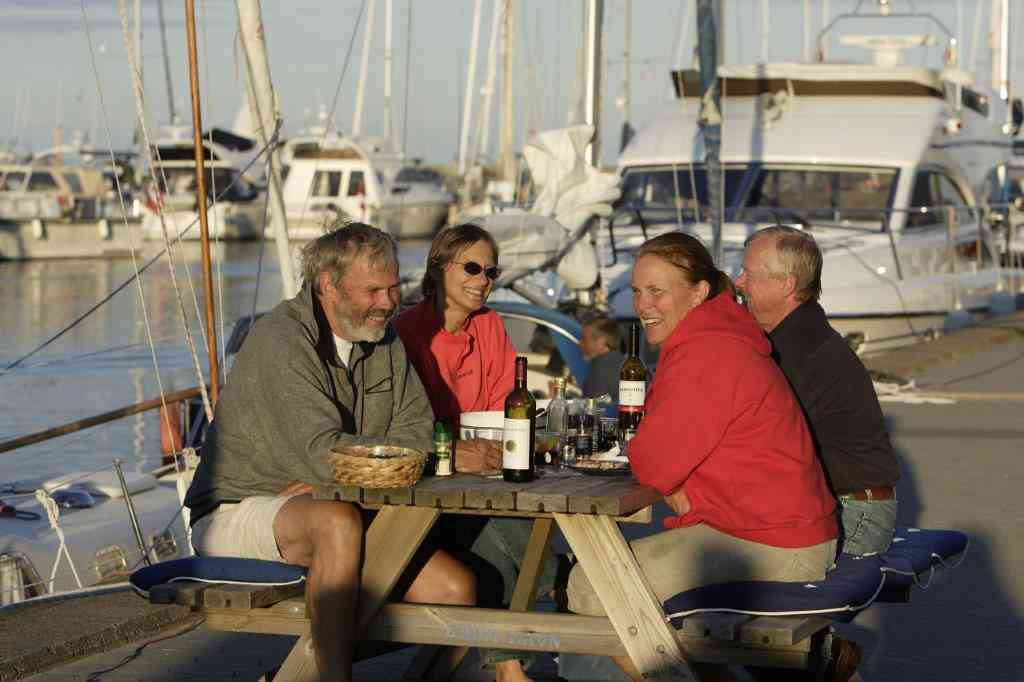
[[[331,451],[327,460],[342,485],[409,487],[420,480],[427,457],[412,447],[349,445]]]

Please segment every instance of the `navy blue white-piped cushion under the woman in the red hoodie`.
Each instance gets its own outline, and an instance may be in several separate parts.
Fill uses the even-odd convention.
[[[694,613],[725,611],[750,615],[821,615],[852,621],[874,601],[885,585],[878,556],[842,556],[825,580],[816,583],[740,581],[706,585],[665,602],[665,612],[677,628]]]

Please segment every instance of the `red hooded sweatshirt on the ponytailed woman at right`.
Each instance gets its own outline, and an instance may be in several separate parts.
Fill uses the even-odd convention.
[[[663,495],[682,484],[690,510],[669,527],[707,523],[774,547],[839,535],[836,501],[771,345],[722,294],[662,345],[646,415],[629,455],[637,480]]]

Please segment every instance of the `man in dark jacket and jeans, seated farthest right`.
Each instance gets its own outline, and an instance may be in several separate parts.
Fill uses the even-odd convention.
[[[814,238],[784,225],[754,233],[736,285],[807,416],[839,498],[842,551],[884,552],[896,523],[899,463],[867,370],[817,302],[821,252]]]

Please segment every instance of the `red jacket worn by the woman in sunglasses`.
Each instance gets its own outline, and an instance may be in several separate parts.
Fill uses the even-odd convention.
[[[431,296],[398,315],[394,328],[437,419],[454,425],[464,412],[504,409],[515,384],[515,348],[497,312],[481,308],[451,334]]]

